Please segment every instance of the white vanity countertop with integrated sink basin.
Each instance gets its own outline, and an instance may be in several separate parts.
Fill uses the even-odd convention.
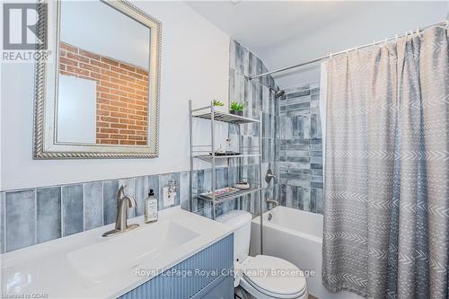
[[[140,226],[113,237],[101,237],[110,224],[2,254],[2,295],[116,298],[233,233],[180,207],[160,211],[156,223],[143,220],[128,219]]]

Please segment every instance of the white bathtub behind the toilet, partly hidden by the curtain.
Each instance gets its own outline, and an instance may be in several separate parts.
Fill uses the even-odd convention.
[[[269,214],[272,215],[269,221]],[[322,224],[320,214],[275,207],[263,215],[263,253],[286,259],[304,271],[310,295],[320,299],[352,299],[358,295],[331,294],[321,284]],[[260,217],[251,223],[251,256],[260,253]]]

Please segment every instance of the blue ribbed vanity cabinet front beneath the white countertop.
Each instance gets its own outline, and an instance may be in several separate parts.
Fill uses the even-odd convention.
[[[233,234],[120,298],[233,299]]]

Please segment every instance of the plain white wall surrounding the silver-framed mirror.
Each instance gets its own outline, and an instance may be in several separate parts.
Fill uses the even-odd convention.
[[[228,97],[229,36],[186,4],[136,2],[163,22],[160,154],[156,159],[32,160],[34,66],[1,70],[1,189],[107,180],[189,169],[188,100]],[[205,136],[205,126],[197,126]],[[221,132],[225,136],[225,128]]]

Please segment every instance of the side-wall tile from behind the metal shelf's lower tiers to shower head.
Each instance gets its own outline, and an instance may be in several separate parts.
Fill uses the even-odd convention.
[[[229,48],[229,102],[243,102],[245,107],[243,116],[251,119],[262,118],[262,126],[258,124],[229,125],[229,138],[231,143],[243,145],[243,154],[257,154],[262,156],[262,181],[259,180],[260,167],[259,157],[245,157],[240,159],[230,159],[229,167],[224,169],[220,176],[217,174],[216,188],[233,186],[239,180],[249,181],[254,186],[261,186],[262,198],[277,198],[278,185],[274,181],[269,185],[265,182],[265,172],[269,167],[277,172],[278,161],[278,137],[277,137],[277,116],[279,113],[278,102],[274,99],[276,83],[271,76],[265,76],[258,80],[249,80],[249,76],[267,72],[259,57],[256,57],[247,48],[244,48],[236,40],[231,40]],[[240,126],[240,129],[239,129]],[[260,129],[262,136],[262,146],[260,149]],[[211,189],[210,170],[198,171],[193,178],[193,189]],[[200,198],[192,200],[193,207],[189,209],[199,215],[211,217],[212,205],[210,201]],[[263,205],[267,209],[267,205]],[[259,215],[260,192],[252,193],[241,198],[236,198],[216,206],[216,215],[233,209],[244,209],[252,215]]]

